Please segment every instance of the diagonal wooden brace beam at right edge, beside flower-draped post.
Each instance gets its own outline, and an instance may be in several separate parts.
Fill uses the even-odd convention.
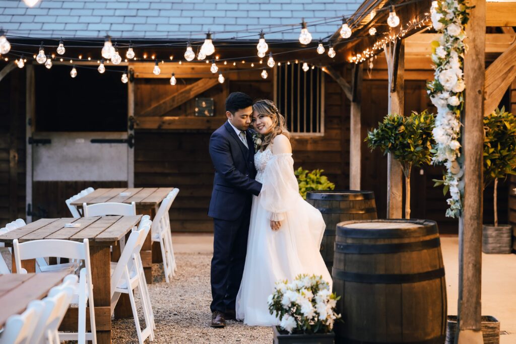
[[[486,70],[484,116],[498,107],[514,78],[516,78],[516,42],[498,56]]]

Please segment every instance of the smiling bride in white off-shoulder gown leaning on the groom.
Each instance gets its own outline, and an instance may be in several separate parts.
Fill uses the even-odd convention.
[[[263,136],[254,155],[256,181],[263,184],[253,196],[244,275],[236,298],[236,318],[247,325],[278,323],[269,313],[267,298],[280,280],[298,274],[331,276],[319,253],[325,223],[320,212],[299,194],[285,119],[273,102],[253,104],[252,125]]]

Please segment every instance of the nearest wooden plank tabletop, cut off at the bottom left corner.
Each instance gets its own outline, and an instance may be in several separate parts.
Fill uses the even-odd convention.
[[[30,301],[41,300],[61,284],[70,270],[0,275],[0,328],[11,315],[22,314]]]

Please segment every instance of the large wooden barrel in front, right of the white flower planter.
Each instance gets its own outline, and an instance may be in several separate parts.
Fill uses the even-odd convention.
[[[337,224],[333,291],[343,343],[443,344],[446,283],[436,222]]]

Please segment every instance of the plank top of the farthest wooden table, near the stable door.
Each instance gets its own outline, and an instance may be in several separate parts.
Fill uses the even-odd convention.
[[[136,205],[158,205],[173,189],[174,188],[100,188],[73,201],[71,204],[82,206],[83,203],[135,202]],[[122,192],[127,192],[128,194],[121,195],[120,193]]]

